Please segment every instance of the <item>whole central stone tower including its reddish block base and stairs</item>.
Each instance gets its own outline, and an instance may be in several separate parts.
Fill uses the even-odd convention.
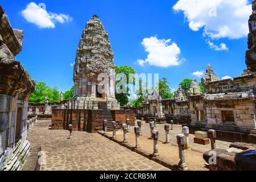
[[[114,53],[108,32],[96,15],[82,31],[73,80],[75,97],[69,109],[52,109],[52,129],[68,129],[72,124],[73,130],[94,133],[103,130],[105,119],[109,131],[112,130],[112,121],[118,123],[118,128],[126,119],[135,125],[135,111],[120,110],[115,99]]]

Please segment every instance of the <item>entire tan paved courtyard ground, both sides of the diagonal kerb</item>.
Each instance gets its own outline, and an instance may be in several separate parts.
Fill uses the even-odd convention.
[[[159,160],[150,160],[153,153],[153,140],[150,137],[150,127],[147,123],[142,125],[142,136],[140,137],[141,150],[144,154],[137,154],[133,150],[121,146],[110,140],[112,132],[108,132],[105,137],[103,132],[87,133],[85,131],[73,131],[72,139],[68,139],[67,130],[49,130],[51,120],[38,120],[28,133],[28,140],[32,150],[41,146],[41,166],[42,171],[152,171],[175,169],[179,163],[179,150],[176,144],[176,135],[182,129],[181,125],[174,125],[170,131],[171,144],[164,144],[164,125],[156,125],[159,130]],[[108,138],[107,138],[108,137]],[[109,139],[110,138],[110,139]],[[117,131],[117,138],[122,143],[123,131]],[[210,150],[210,145],[193,143],[193,135],[189,135],[191,150],[185,150],[185,158],[189,170],[205,171],[203,152]],[[134,129],[128,134],[128,143],[135,146]],[[229,148],[229,142],[217,140],[218,148]],[[113,153],[113,151],[115,151]],[[148,155],[148,156],[145,156]],[[28,166],[25,162],[24,167]],[[159,164],[160,163],[160,164]],[[162,164],[162,165],[161,165]],[[167,166],[166,166],[167,165]],[[166,167],[165,167],[166,166]],[[31,170],[34,170],[31,168]]]

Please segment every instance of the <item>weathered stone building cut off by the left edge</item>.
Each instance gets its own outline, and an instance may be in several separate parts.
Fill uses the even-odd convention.
[[[0,6],[0,171],[20,169],[30,150],[27,107],[35,82],[15,60],[22,40],[23,31],[11,27]]]

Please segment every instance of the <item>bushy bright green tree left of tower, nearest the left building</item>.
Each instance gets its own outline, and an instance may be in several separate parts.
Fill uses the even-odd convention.
[[[51,88],[51,86],[46,85],[45,82],[37,82],[35,85],[35,91],[31,93],[30,102],[44,103],[46,93],[49,102],[60,101],[60,93],[57,87]]]

